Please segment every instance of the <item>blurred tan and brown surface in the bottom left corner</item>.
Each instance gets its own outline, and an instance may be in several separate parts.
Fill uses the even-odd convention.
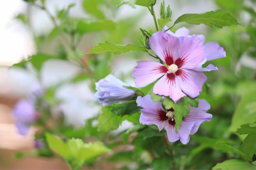
[[[0,97],[0,169],[69,169],[56,158],[14,158],[18,151],[33,151],[35,129],[26,137],[20,136],[13,124],[12,108],[17,99]]]

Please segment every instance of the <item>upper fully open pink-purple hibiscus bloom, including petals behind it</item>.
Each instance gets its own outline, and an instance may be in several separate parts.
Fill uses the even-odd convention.
[[[207,58],[220,58],[220,55],[215,56],[215,51],[221,51],[220,47],[208,43],[204,45],[202,40],[202,35],[188,36],[188,30],[183,28],[177,30],[175,35],[164,31],[154,33],[149,39],[149,46],[167,66],[153,61],[139,61],[132,73],[135,84],[145,87],[161,77],[153,87],[155,94],[169,96],[175,103],[186,95],[197,97],[207,79],[200,71],[217,69],[213,65],[202,68],[202,64]],[[223,48],[222,52],[224,56]]]

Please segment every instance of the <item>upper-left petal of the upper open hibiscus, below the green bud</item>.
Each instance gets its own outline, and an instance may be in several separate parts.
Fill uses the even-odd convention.
[[[164,31],[154,33],[149,39],[149,47],[167,65],[173,64],[178,57],[179,38]]]

